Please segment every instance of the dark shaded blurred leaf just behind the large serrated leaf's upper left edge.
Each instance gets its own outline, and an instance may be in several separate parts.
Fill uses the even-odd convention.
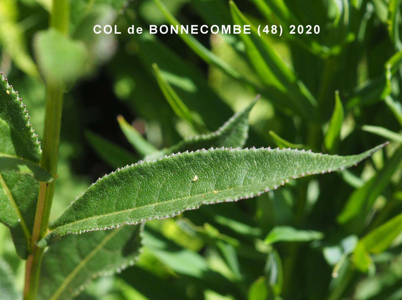
[[[112,168],[119,168],[120,166],[138,161],[134,154],[98,134],[87,131],[86,138],[96,154],[105,160]]]

